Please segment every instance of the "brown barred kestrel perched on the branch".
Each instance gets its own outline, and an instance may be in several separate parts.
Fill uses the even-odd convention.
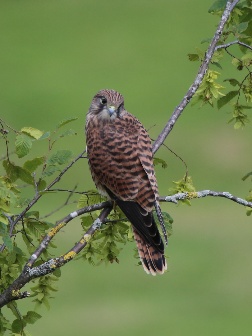
[[[97,190],[114,201],[130,221],[146,273],[163,274],[167,263],[154,208],[166,246],[167,235],[146,129],[125,110],[120,93],[104,89],[92,99],[85,134],[89,169]]]

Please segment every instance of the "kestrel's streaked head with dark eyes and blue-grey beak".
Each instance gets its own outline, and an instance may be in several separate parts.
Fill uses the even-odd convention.
[[[89,118],[97,118],[97,121],[114,121],[125,111],[123,96],[114,90],[101,90],[94,96],[87,114]]]

